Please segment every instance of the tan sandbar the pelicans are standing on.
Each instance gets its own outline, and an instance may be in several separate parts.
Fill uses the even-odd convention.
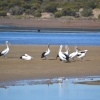
[[[5,45],[0,45],[0,51],[4,48]],[[69,46],[69,48],[70,52],[74,51],[74,47]],[[48,60],[44,60],[40,57],[42,52],[47,50],[46,46],[12,45],[7,58],[0,57],[0,82],[100,75],[100,47],[79,46],[79,48],[89,50],[83,62],[75,58],[74,62],[63,63],[59,58],[55,59],[59,46],[51,45]],[[20,56],[25,53],[31,55],[33,59],[31,61],[21,60]]]

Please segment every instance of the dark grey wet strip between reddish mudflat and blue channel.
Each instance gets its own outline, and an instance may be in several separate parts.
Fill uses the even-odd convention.
[[[0,31],[100,31],[100,28],[42,28],[23,26],[0,26]]]

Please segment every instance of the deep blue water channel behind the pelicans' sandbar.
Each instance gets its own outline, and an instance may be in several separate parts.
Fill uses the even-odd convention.
[[[100,32],[0,32],[0,44],[100,46]]]

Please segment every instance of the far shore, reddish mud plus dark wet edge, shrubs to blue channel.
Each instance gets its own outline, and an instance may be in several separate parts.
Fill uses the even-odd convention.
[[[100,31],[100,21],[67,19],[7,19],[0,18],[0,31]]]

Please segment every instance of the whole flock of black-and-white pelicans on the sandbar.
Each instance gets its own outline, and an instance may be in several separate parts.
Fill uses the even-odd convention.
[[[8,41],[6,41],[7,48],[0,52],[0,56],[4,56],[6,58],[6,54],[8,54],[8,52],[10,50],[9,44],[10,43]],[[66,49],[65,52],[62,52],[62,48],[63,48],[63,45],[60,45],[57,57],[59,57],[59,59],[63,62],[69,62],[69,59],[74,61],[75,57],[77,57],[77,58],[81,59],[81,61],[83,61],[83,57],[86,55],[86,53],[88,51],[88,50],[80,50],[77,46],[75,46],[74,47],[75,52],[72,52],[69,54],[70,49],[69,49],[68,45],[65,46],[65,49]],[[42,53],[41,58],[47,59],[49,54],[50,54],[50,44],[48,44],[48,50]],[[57,59],[57,57],[56,57],[56,59]],[[31,57],[28,54],[24,54],[20,58],[23,60],[31,60],[33,57]]]

